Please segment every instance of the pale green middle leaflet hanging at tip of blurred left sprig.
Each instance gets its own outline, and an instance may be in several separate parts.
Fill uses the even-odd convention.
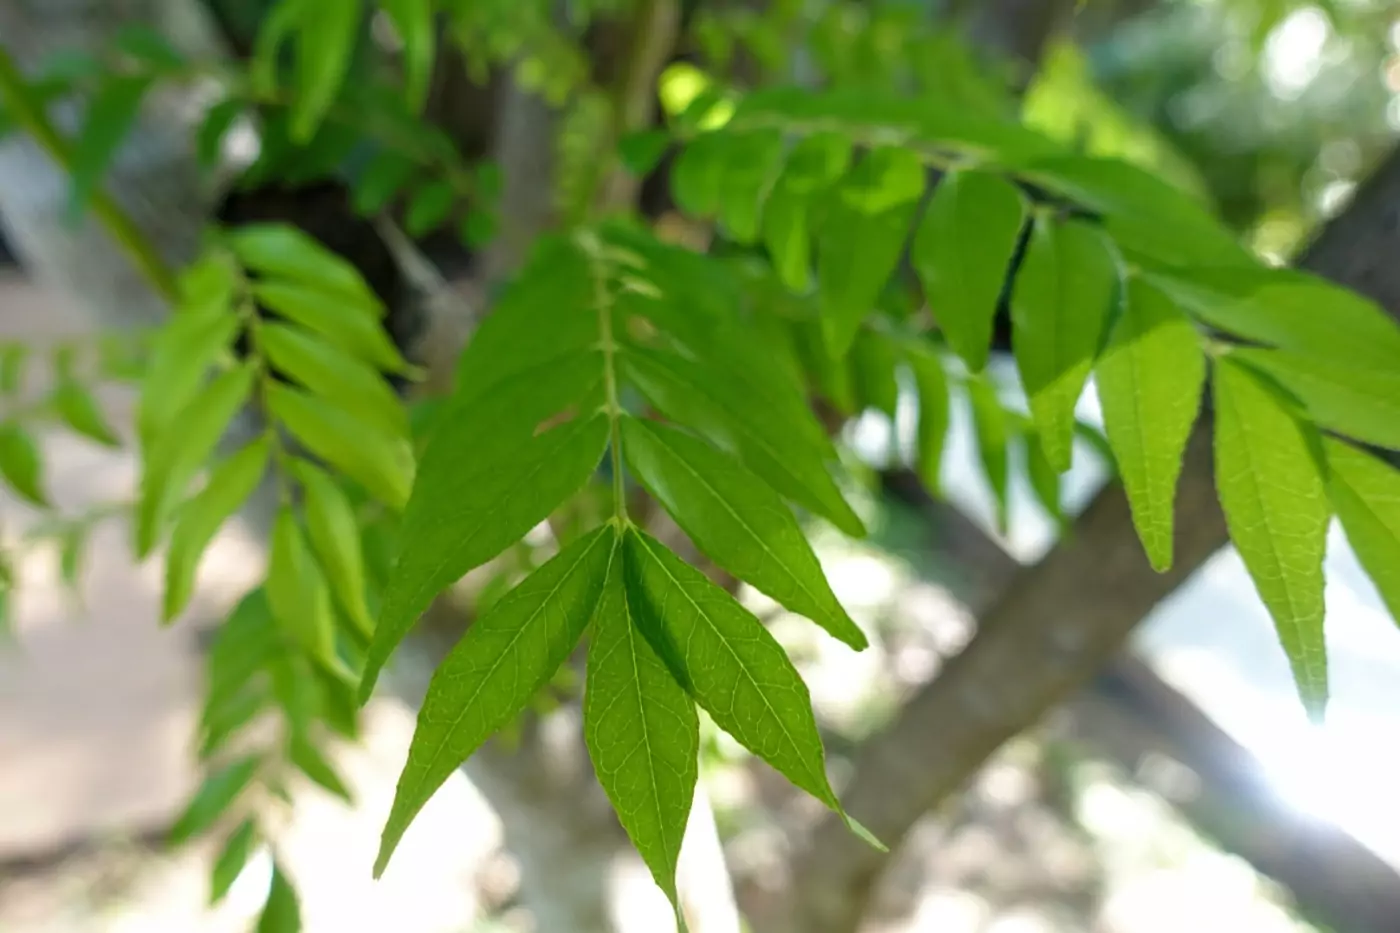
[[[314,658],[335,667],[335,615],[330,591],[316,559],[297,523],[295,513],[283,507],[272,528],[267,555],[267,604],[273,618]]]

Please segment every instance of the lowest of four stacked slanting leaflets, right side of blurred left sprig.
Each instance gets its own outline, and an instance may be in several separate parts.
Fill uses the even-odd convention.
[[[403,509],[413,488],[413,447],[346,408],[300,389],[270,384],[267,410],[307,450],[356,481],[392,509]]]

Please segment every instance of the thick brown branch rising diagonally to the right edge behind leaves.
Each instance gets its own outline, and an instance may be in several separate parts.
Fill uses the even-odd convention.
[[[1400,318],[1400,151],[1302,254],[1299,266],[1378,300]],[[1147,614],[1229,542],[1215,497],[1208,413],[1191,436],[1177,489],[1176,562],[1151,570],[1117,485],[1071,532],[1016,574],[977,637],[867,740],[843,799],[896,848],[1004,741],[1086,685]],[[853,933],[889,856],[837,820],[813,832],[795,867],[794,930]]]

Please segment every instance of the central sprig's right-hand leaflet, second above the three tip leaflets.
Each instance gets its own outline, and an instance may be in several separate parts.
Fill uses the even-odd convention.
[[[805,438],[794,419],[753,405],[742,392],[735,394],[732,384],[714,380],[690,360],[633,352],[623,361],[629,378],[668,417],[736,454],[777,492],[846,534],[865,535],[826,468],[825,447]]]

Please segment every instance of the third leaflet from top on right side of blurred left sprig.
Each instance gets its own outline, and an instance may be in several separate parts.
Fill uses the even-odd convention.
[[[388,434],[407,437],[409,415],[403,402],[372,368],[333,343],[286,324],[258,328],[258,346],[283,374],[356,412]]]

